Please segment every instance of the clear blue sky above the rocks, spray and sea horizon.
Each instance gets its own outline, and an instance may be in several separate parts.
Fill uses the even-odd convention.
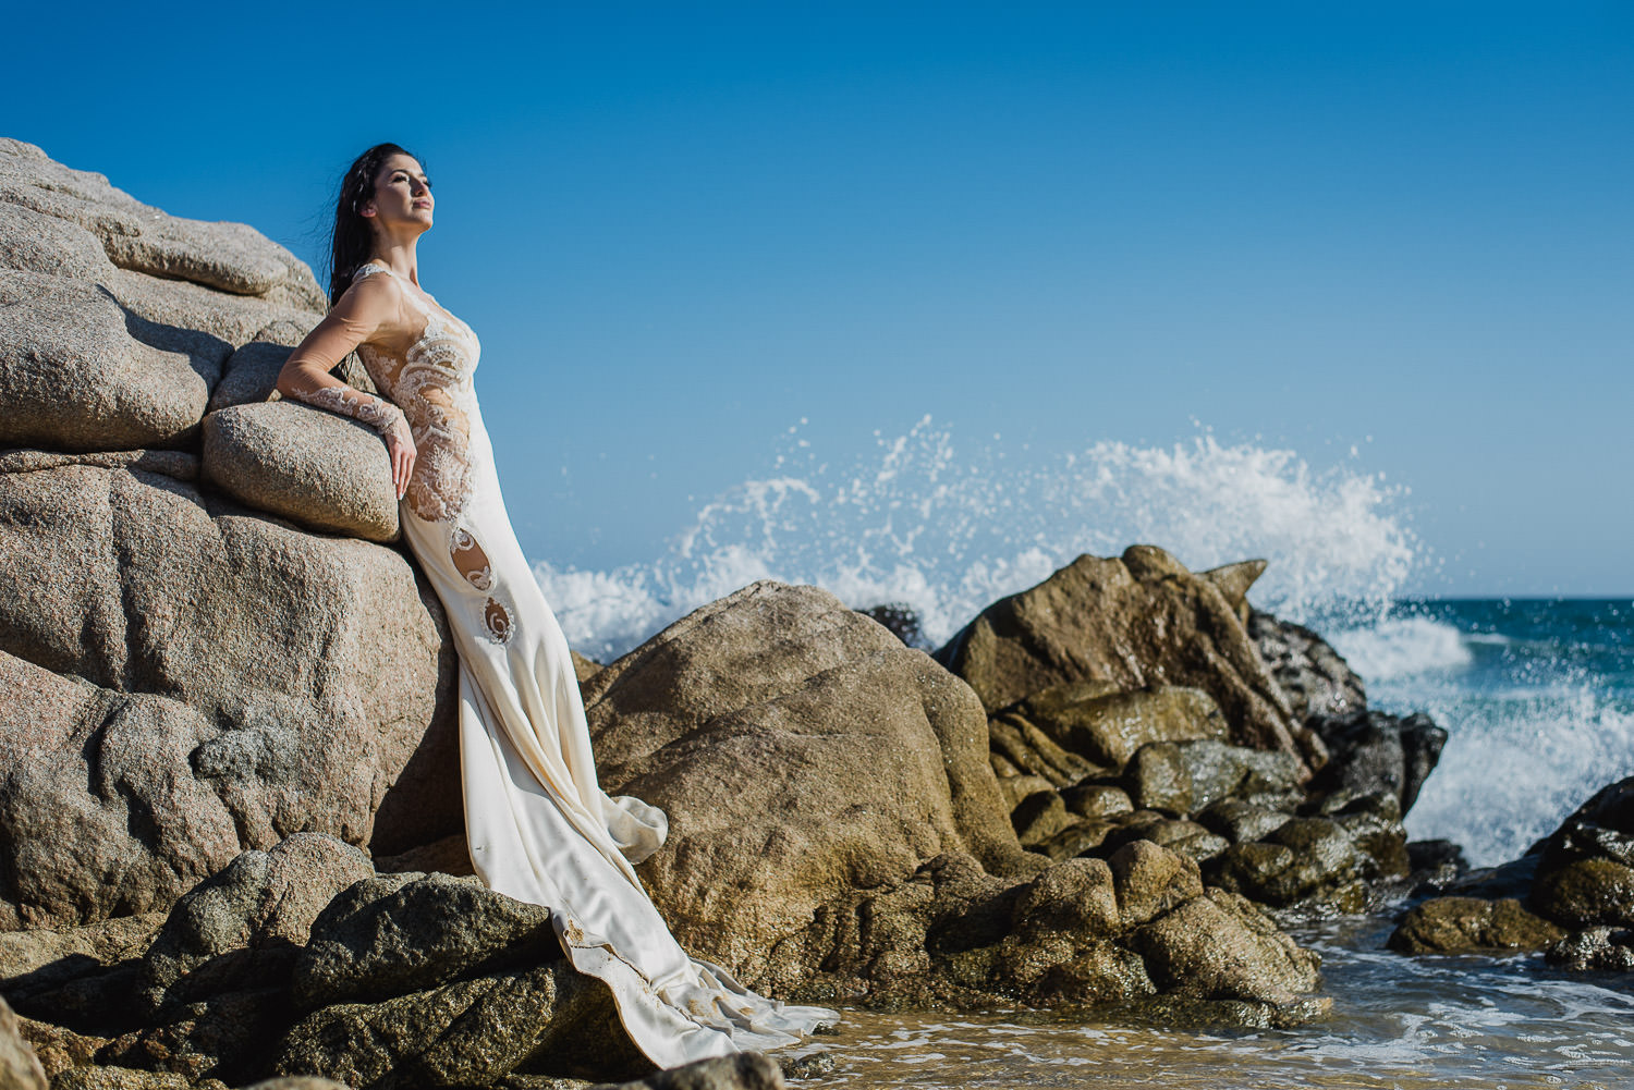
[[[531,557],[641,561],[789,427],[846,458],[930,413],[1044,461],[1201,423],[1410,485],[1420,590],[1634,592],[1627,3],[8,29],[0,134],[314,266],[351,157],[422,155],[422,281],[482,337]]]

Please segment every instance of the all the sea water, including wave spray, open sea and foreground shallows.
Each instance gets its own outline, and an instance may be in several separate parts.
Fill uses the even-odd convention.
[[[797,431],[770,471],[699,508],[645,564],[536,575],[569,641],[608,659],[755,579],[902,603],[936,646],[1082,552],[1160,544],[1193,570],[1270,561],[1250,601],[1327,636],[1373,708],[1449,739],[1407,817],[1471,863],[1515,858],[1600,786],[1634,775],[1634,600],[1425,600],[1436,559],[1407,487],[1356,464],[1199,433],[1049,459],[956,443],[922,420],[853,458]],[[1064,1025],[1036,1012],[846,1012],[812,1087],[1634,1087],[1634,977],[1528,958],[1382,949],[1391,920],[1306,925],[1333,1013],[1281,1031]]]

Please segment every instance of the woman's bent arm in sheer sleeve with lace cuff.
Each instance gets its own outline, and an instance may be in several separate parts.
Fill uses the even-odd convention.
[[[386,317],[395,310],[392,288],[382,281],[384,278],[366,278],[340,297],[289,353],[278,373],[278,392],[351,417],[386,435],[404,422],[402,410],[330,374],[346,353],[379,332]]]

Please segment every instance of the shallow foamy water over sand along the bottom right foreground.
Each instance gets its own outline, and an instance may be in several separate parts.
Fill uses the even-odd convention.
[[[1324,956],[1333,1012],[1294,1030],[1194,1033],[1029,1025],[1021,1012],[845,1012],[832,1072],[792,1087],[1585,1087],[1634,1085],[1634,977],[1536,958],[1402,958],[1391,922],[1294,928]]]

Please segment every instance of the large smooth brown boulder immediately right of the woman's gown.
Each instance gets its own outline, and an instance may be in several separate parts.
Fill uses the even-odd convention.
[[[585,683],[603,786],[670,814],[641,874],[675,936],[750,987],[824,905],[948,851],[1038,871],[989,765],[974,693],[814,587],[753,583]]]

